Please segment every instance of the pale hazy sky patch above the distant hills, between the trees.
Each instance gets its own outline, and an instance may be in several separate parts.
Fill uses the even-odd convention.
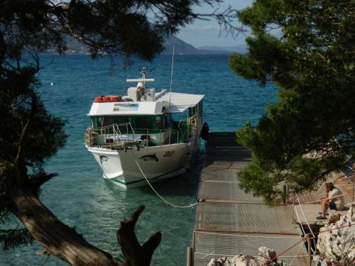
[[[218,7],[220,11],[224,11],[228,5],[231,5],[232,8],[240,10],[250,6],[251,3],[252,0],[224,0],[224,3],[215,6],[215,8]],[[214,8],[208,5],[196,6],[195,11],[198,13],[212,13]],[[235,23],[239,25],[237,21]],[[244,44],[245,39],[245,35],[241,33],[234,39],[231,35],[226,35],[223,31],[220,32],[219,25],[214,19],[210,21],[195,21],[195,23],[181,28],[177,37],[196,48],[204,45],[236,46]]]

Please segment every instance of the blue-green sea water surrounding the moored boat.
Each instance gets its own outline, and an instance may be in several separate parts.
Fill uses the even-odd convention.
[[[126,95],[127,78],[140,77],[138,67],[153,70],[154,87],[170,88],[171,56],[162,55],[153,62],[135,60],[126,70],[120,64],[110,75],[109,57],[92,60],[89,55],[41,55],[38,77],[40,94],[48,110],[65,119],[69,135],[67,145],[46,162],[47,172],[59,175],[43,186],[42,199],[53,213],[69,226],[75,226],[89,243],[112,253],[121,254],[116,242],[119,221],[129,217],[141,204],[146,205],[136,226],[143,243],[155,231],[163,240],[151,265],[185,265],[186,249],[192,245],[195,208],[176,209],[163,203],[149,187],[124,191],[102,179],[94,158],[84,148],[84,131],[89,125],[87,113],[95,96]],[[227,65],[226,55],[176,55],[174,58],[173,91],[205,94],[204,121],[210,131],[236,131],[246,121],[256,124],[265,113],[265,106],[276,101],[273,85],[258,87],[257,82],[237,77]],[[52,62],[53,61],[53,62]],[[53,86],[51,86],[53,83]],[[197,155],[192,170],[174,179],[154,184],[168,201],[188,205],[195,201],[204,147]],[[42,265],[45,257],[33,244],[7,253],[0,253],[0,265]],[[45,265],[67,265],[49,257]]]

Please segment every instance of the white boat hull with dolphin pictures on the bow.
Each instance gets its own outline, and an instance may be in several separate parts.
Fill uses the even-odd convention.
[[[87,150],[94,155],[102,168],[104,178],[110,179],[124,189],[129,189],[147,185],[146,178],[149,182],[155,182],[185,172],[186,155],[189,154],[189,150],[192,152],[190,145],[178,143],[139,150],[87,147]]]

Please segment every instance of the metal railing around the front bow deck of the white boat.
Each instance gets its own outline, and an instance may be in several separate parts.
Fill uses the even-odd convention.
[[[139,148],[143,141],[137,138],[131,123],[112,124],[101,128],[87,128],[85,144],[89,147],[100,148]]]

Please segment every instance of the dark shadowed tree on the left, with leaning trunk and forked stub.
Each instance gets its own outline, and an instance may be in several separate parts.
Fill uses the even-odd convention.
[[[40,187],[55,176],[45,159],[65,145],[63,121],[50,115],[37,92],[38,52],[65,52],[68,38],[102,53],[152,60],[163,50],[163,37],[195,18],[216,18],[228,26],[233,12],[198,14],[193,4],[219,0],[0,0],[0,244],[4,250],[31,243],[44,254],[72,265],[149,265],[160,243],[155,233],[139,245],[134,225],[139,207],[121,222],[117,239],[125,262],[87,243],[40,201]],[[148,16],[153,21],[148,21]],[[11,228],[16,216],[25,228]]]

